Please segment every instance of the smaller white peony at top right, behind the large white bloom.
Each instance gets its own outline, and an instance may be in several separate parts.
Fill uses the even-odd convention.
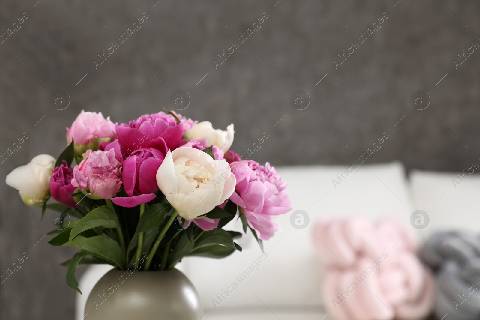
[[[232,146],[234,134],[233,123],[227,127],[227,131],[224,131],[213,129],[211,122],[203,121],[185,132],[183,137],[188,140],[207,138],[209,145],[216,145],[225,153]]]

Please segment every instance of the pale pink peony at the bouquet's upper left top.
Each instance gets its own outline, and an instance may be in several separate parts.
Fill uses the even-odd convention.
[[[87,145],[93,143],[95,138],[114,140],[115,124],[110,121],[110,117],[103,118],[101,112],[82,110],[73,121],[72,127],[67,128],[67,142],[70,144],[73,139],[76,144]]]

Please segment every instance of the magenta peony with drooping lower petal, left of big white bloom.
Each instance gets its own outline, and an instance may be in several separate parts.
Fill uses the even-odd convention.
[[[129,208],[152,201],[158,190],[156,171],[163,159],[165,155],[154,148],[134,151],[123,161],[122,171],[123,188],[130,197],[115,197],[112,201]]]

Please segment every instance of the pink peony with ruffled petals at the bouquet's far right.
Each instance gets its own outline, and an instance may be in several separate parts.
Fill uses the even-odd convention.
[[[290,200],[282,192],[288,184],[282,183],[268,162],[260,166],[252,160],[237,161],[230,167],[237,180],[230,200],[243,208],[248,225],[256,230],[258,237],[268,240],[278,230],[270,216],[291,210]]]

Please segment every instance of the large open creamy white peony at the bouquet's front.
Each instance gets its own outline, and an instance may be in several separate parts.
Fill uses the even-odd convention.
[[[224,160],[190,147],[168,151],[156,172],[158,188],[181,217],[194,219],[230,198],[235,176]]]

